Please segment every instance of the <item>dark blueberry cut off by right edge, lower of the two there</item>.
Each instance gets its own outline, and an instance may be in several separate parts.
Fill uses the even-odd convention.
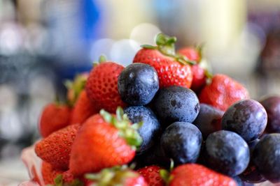
[[[267,134],[253,150],[253,163],[262,176],[280,182],[280,134]]]

